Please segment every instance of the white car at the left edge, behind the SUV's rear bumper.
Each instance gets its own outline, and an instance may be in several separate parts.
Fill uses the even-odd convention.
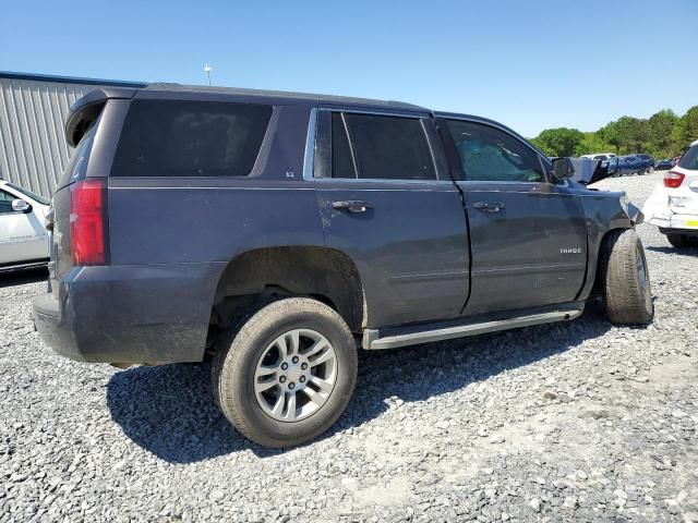
[[[0,180],[0,272],[46,265],[50,202]]]

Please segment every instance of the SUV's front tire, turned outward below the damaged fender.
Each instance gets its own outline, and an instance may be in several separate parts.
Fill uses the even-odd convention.
[[[645,248],[635,229],[611,231],[600,259],[603,302],[613,324],[643,325],[654,316]]]

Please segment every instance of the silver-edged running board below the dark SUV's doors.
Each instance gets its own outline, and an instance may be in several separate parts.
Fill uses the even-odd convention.
[[[466,320],[460,320],[458,324],[455,324],[454,321],[442,321],[440,324],[422,326],[388,328],[383,332],[380,329],[365,329],[363,331],[362,344],[363,348],[368,350],[397,349],[398,346],[430,343],[433,341],[450,340],[454,338],[465,338],[467,336],[484,335],[488,332],[496,332],[498,330],[551,324],[553,321],[565,321],[581,316],[585,304],[581,302],[569,304],[568,307],[558,307],[559,308],[556,311],[528,314],[525,316],[504,319],[473,321],[473,318],[467,318]]]

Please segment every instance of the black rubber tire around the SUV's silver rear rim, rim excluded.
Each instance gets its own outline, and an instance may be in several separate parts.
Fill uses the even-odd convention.
[[[270,343],[293,329],[324,336],[337,360],[336,381],[326,402],[294,422],[274,419],[261,406],[255,370]],[[357,345],[345,320],[327,305],[306,297],[279,300],[261,308],[222,340],[212,363],[218,406],[244,437],[265,447],[292,447],[325,433],[346,409],[357,379]]]

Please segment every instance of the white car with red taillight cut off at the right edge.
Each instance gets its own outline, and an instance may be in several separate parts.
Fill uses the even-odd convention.
[[[666,171],[642,212],[675,247],[698,246],[698,141]]]

